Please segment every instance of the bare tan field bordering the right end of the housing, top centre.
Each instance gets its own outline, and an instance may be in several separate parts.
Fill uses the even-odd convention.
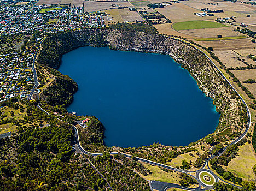
[[[143,21],[142,17],[137,11],[130,11],[127,9],[110,9],[106,10],[107,13],[106,23],[117,23],[117,22],[135,22]]]

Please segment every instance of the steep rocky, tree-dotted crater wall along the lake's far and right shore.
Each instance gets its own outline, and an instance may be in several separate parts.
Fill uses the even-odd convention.
[[[207,57],[193,46],[181,40],[165,37],[160,34],[146,34],[136,31],[83,30],[55,35],[43,45],[39,55],[39,63],[50,67],[59,67],[63,53],[82,46],[109,46],[114,50],[152,52],[170,55],[174,61],[187,69],[197,81],[199,88],[214,100],[216,109],[221,117],[217,132],[227,127],[233,133],[226,135],[232,139],[235,132],[241,131],[246,125],[246,115],[243,115],[243,104],[237,98],[225,80],[216,72]],[[56,59],[45,58],[50,50]],[[234,137],[233,137],[234,138]]]

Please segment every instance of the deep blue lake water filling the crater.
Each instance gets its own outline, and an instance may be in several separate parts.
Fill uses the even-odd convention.
[[[212,99],[170,56],[82,47],[59,71],[79,85],[67,110],[96,116],[107,146],[185,146],[218,125]]]

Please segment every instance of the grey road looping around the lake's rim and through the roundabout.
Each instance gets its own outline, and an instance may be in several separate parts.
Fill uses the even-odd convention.
[[[167,36],[164,36],[164,37],[167,37]],[[184,43],[189,43],[188,41],[185,41],[185,40],[179,39],[179,38],[174,38],[174,37],[167,37],[167,38],[172,38],[172,39],[176,39],[176,40],[181,40],[181,41],[183,41]],[[44,39],[45,39],[45,38],[44,38]],[[44,40],[44,39],[43,39],[43,40]],[[40,47],[40,45],[42,44],[43,40],[40,41],[40,44],[38,45],[37,51],[36,51],[36,53],[35,53],[35,55],[34,55],[34,61],[33,61],[32,70],[33,70],[33,73],[34,73],[34,82],[35,82],[35,86],[34,86],[34,88],[32,89],[30,96],[28,96],[28,99],[31,99],[31,97],[32,97],[32,95],[33,95],[33,93],[34,93],[34,91],[36,91],[36,89],[37,89],[37,87],[38,87],[38,80],[37,80],[36,70],[35,70],[35,68],[34,68],[34,63],[35,63],[35,61],[36,61],[37,52],[38,52],[39,47]],[[236,144],[237,142],[239,142],[240,140],[242,140],[242,139],[246,136],[246,134],[248,133],[249,127],[251,126],[251,112],[249,111],[248,105],[246,104],[245,100],[243,100],[243,98],[240,96],[240,94],[236,91],[236,89],[231,85],[231,83],[228,81],[228,79],[226,79],[226,77],[224,76],[224,74],[222,73],[222,71],[217,67],[216,64],[214,64],[214,62],[212,61],[212,59],[211,59],[210,57],[208,57],[205,52],[203,52],[202,50],[200,50],[200,49],[198,49],[197,47],[195,47],[195,45],[193,45],[193,44],[191,44],[191,43],[189,43],[189,44],[190,44],[191,46],[193,46],[195,49],[201,51],[201,52],[210,60],[210,62],[213,64],[213,67],[216,68],[216,69],[219,71],[219,73],[222,75],[223,79],[226,80],[226,81],[229,83],[229,85],[232,87],[232,89],[238,94],[238,96],[240,97],[240,99],[242,100],[242,102],[246,105],[247,115],[248,115],[248,118],[249,118],[248,124],[247,124],[247,127],[246,127],[245,131],[242,133],[242,135],[241,135],[239,138],[237,138],[236,140],[232,141],[228,146],[234,145],[234,144]],[[40,105],[38,105],[38,108],[39,108],[40,110],[42,110],[43,112],[45,112],[47,115],[51,115],[49,112],[47,112],[47,111],[45,111],[43,108],[41,108]],[[57,117],[56,117],[56,119],[57,119],[57,120],[60,120],[60,121],[62,121],[62,122],[64,122],[64,121],[61,120],[60,118],[57,118]],[[67,123],[67,122],[65,122],[65,123]],[[69,123],[67,123],[67,124],[69,124]],[[75,130],[75,137],[77,138],[77,144],[75,144],[75,150],[76,150],[77,152],[83,153],[83,154],[86,154],[86,155],[89,155],[89,156],[102,156],[102,155],[103,155],[103,153],[91,153],[91,152],[86,151],[86,150],[82,147],[82,145],[80,144],[80,139],[79,139],[79,134],[78,134],[78,129],[77,129],[77,127],[75,127],[75,126],[72,125],[72,124],[69,124],[69,125],[73,126],[73,128],[74,128],[74,130]],[[227,148],[228,146],[225,146],[225,147],[223,148],[223,152],[222,152],[222,153],[219,153],[218,156],[222,156],[222,154],[226,151],[226,148]],[[110,152],[110,154],[114,155],[114,154],[118,154],[118,152]],[[131,157],[132,157],[132,155],[130,155],[130,154],[126,154],[126,153],[120,153],[120,154],[122,154],[123,156],[125,156],[125,157],[127,157],[127,158],[131,158]],[[216,174],[214,174],[214,172],[212,172],[211,170],[209,170],[210,167],[209,167],[208,163],[209,163],[209,161],[210,161],[211,159],[213,159],[213,158],[215,158],[215,157],[217,157],[217,156],[212,155],[211,157],[209,157],[209,158],[206,160],[205,164],[203,164],[202,168],[199,169],[199,170],[196,170],[196,171],[189,171],[189,170],[177,169],[177,168],[174,168],[174,167],[172,167],[172,166],[168,166],[168,165],[165,165],[165,164],[156,163],[156,162],[154,162],[154,161],[152,161],[152,160],[143,159],[143,158],[140,158],[140,157],[136,157],[136,159],[137,159],[138,161],[140,161],[140,162],[144,162],[144,163],[148,163],[148,164],[151,164],[151,165],[159,166],[160,168],[166,168],[166,169],[170,169],[170,170],[173,170],[173,171],[185,173],[185,174],[187,174],[187,175],[189,175],[189,176],[195,178],[196,181],[199,183],[199,187],[197,187],[197,188],[187,188],[187,187],[183,187],[183,186],[181,186],[181,185],[179,185],[179,184],[166,183],[166,182],[159,182],[159,181],[150,181],[150,188],[151,188],[152,190],[153,190],[153,189],[156,189],[156,190],[159,190],[159,191],[166,191],[168,188],[180,188],[180,189],[190,190],[190,191],[193,191],[193,190],[209,190],[209,189],[212,189],[212,188],[213,188],[212,185],[211,185],[211,186],[207,186],[206,183],[203,183],[203,182],[200,180],[201,178],[199,177],[199,175],[200,175],[201,172],[206,172],[206,173],[211,174],[211,175],[214,177],[215,182],[219,182],[219,180],[220,180],[220,181],[225,182],[226,184],[230,184],[230,185],[232,185],[232,186],[235,186],[235,187],[238,187],[238,188],[242,188],[242,187],[240,187],[240,186],[237,186],[237,185],[235,185],[235,184],[231,184],[231,183],[229,183],[229,182],[226,182],[226,181],[222,180],[222,178],[219,178]],[[208,169],[206,169],[206,166],[207,166]],[[195,176],[194,176],[194,175],[191,175],[191,173],[196,173],[196,175],[195,175]],[[109,185],[109,186],[110,186],[110,185]]]

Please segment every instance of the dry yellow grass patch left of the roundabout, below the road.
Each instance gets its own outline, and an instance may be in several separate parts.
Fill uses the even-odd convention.
[[[141,175],[146,180],[155,180],[160,182],[179,184],[180,178],[178,172],[165,172],[158,166],[153,166],[146,163],[143,163],[143,165],[145,166],[145,168],[149,169],[152,172],[152,174],[148,176]]]

